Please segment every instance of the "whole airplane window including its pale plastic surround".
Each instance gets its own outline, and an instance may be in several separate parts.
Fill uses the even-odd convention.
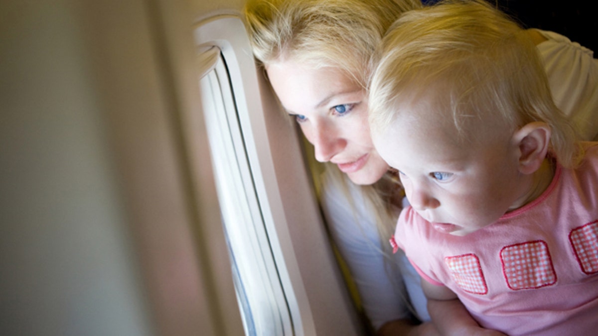
[[[283,117],[258,76],[245,26],[238,17],[219,16],[200,22],[194,33],[202,110],[246,334],[359,335],[296,125]]]

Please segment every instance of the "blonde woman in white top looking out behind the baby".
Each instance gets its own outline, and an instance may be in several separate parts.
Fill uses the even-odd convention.
[[[245,18],[255,57],[316,160],[332,237],[349,265],[365,313],[383,334],[432,334],[419,276],[388,238],[402,190],[379,157],[367,124],[370,56],[386,29],[417,0],[250,0]],[[563,36],[528,30],[544,59],[557,105],[586,139],[598,133],[598,65]],[[575,111],[575,114],[572,113]],[[335,165],[335,166],[334,166]]]

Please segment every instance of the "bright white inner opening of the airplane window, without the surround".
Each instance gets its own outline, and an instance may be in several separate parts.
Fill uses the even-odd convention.
[[[248,335],[292,334],[289,312],[255,195],[228,71],[221,56],[201,80],[222,221]],[[246,295],[246,293],[252,295]],[[286,322],[286,323],[285,323]]]

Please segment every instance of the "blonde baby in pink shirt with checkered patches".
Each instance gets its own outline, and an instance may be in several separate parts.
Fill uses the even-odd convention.
[[[459,299],[509,335],[595,334],[598,143],[576,141],[522,31],[483,1],[410,11],[389,30],[369,121],[410,203],[391,243],[429,307]]]

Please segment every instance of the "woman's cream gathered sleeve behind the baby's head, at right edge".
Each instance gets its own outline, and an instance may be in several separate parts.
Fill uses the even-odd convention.
[[[538,50],[556,105],[579,126],[582,138],[598,140],[598,60],[593,51],[555,32]]]

